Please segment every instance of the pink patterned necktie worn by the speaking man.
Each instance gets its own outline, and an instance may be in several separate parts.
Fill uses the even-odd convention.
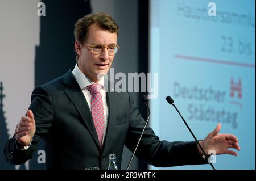
[[[103,141],[103,132],[104,132],[104,110],[102,96],[100,93],[102,85],[94,83],[87,86],[90,94],[92,95],[91,99],[91,112],[93,117],[94,126],[98,134],[98,141],[100,141],[100,146],[102,148]]]

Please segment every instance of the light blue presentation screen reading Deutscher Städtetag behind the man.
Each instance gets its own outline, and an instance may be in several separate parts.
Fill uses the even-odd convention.
[[[158,73],[150,123],[161,140],[193,140],[170,95],[199,140],[218,123],[238,137],[238,156],[217,155],[216,169],[255,169],[254,0],[151,0],[150,72]]]

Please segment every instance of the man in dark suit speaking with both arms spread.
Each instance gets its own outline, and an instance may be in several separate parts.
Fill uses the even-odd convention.
[[[75,25],[77,64],[62,77],[32,92],[26,116],[17,124],[5,146],[6,160],[20,164],[32,158],[44,141],[47,169],[107,169],[109,154],[117,155],[118,167],[124,145],[134,150],[145,124],[127,92],[108,92],[108,73],[117,45],[118,25],[104,13],[86,15]],[[220,124],[200,141],[208,153],[232,154],[240,150],[232,134],[218,134]],[[189,153],[189,154],[188,154]],[[154,166],[168,167],[207,163],[195,141],[159,141],[147,127],[137,157]]]

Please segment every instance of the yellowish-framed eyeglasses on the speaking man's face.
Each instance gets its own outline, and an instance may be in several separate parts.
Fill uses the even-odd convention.
[[[84,43],[88,44],[90,48],[92,49],[89,49],[90,52],[92,54],[101,54],[103,52],[103,50],[106,48],[108,50],[108,54],[109,56],[114,56],[115,53],[117,53],[118,49],[120,48],[118,45],[109,45],[109,46],[105,46],[105,45],[102,45],[102,44],[89,44],[87,43],[86,41],[84,41]]]

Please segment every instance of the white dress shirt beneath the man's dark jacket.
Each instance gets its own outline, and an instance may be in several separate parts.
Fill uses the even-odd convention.
[[[76,64],[75,68],[73,69],[72,73],[76,79],[76,82],[79,84],[79,86],[82,90],[82,93],[84,93],[85,99],[86,99],[88,106],[91,110],[90,100],[92,99],[92,95],[90,94],[90,91],[88,90],[87,86],[92,85],[94,82],[92,82],[88,77],[86,77],[86,75],[84,73],[82,73],[82,71],[79,69],[77,64]],[[102,144],[103,144],[104,138],[106,135],[106,128],[108,125],[108,112],[109,112],[108,105],[106,102],[106,90],[105,90],[105,86],[104,86],[104,76],[101,77],[100,81],[97,83],[102,85],[102,89],[100,91],[101,91],[101,96],[102,96],[102,101],[103,101],[103,109],[104,109],[104,134],[103,134],[103,141],[102,141]]]

